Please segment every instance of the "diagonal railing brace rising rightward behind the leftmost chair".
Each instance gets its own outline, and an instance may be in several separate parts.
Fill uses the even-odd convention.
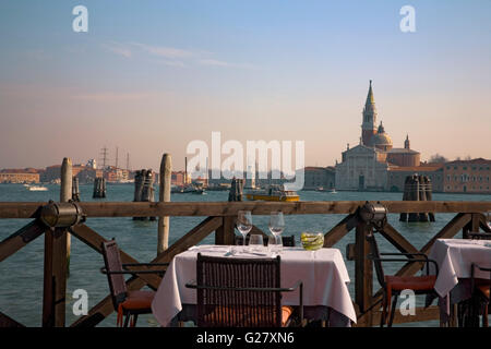
[[[179,254],[190,246],[195,245],[197,242],[206,238],[209,233],[215,231],[221,226],[221,217],[207,217],[200,225],[191,229],[187,234],[176,241],[166,251],[160,253],[151,263],[167,263],[170,262],[176,254]],[[129,290],[139,290],[144,287],[146,282],[143,281],[142,276],[139,278],[131,278],[127,281],[127,287]],[[88,314],[82,316],[75,321],[71,327],[84,327],[84,326],[95,326],[112,313],[115,309],[112,308],[112,300],[108,296],[94,308],[88,311]]]

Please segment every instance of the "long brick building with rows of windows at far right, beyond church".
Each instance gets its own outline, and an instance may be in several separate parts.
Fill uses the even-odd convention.
[[[455,160],[443,166],[443,191],[447,193],[491,193],[491,160]]]

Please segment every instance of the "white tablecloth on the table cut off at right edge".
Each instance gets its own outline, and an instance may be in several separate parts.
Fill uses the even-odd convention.
[[[439,239],[431,249],[430,260],[436,261],[439,276],[435,291],[445,297],[458,284],[459,278],[470,278],[470,265],[491,266],[491,241]],[[434,270],[433,270],[434,274]],[[476,278],[489,278],[489,273],[476,269]]]

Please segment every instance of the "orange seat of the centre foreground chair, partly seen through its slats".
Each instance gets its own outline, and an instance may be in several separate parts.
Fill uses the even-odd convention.
[[[263,327],[265,323],[271,321],[271,313],[273,309],[271,306],[215,306],[214,310],[206,314],[205,317],[208,322],[227,323],[229,326],[248,326]],[[285,327],[294,313],[294,308],[288,305],[282,306],[282,326]]]

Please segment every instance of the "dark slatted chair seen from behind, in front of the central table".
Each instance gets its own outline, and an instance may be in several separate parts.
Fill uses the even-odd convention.
[[[279,285],[280,258],[228,258],[197,254],[196,324],[200,327],[282,327],[290,325],[294,309],[282,306],[282,292],[299,289],[303,318],[303,285]]]

